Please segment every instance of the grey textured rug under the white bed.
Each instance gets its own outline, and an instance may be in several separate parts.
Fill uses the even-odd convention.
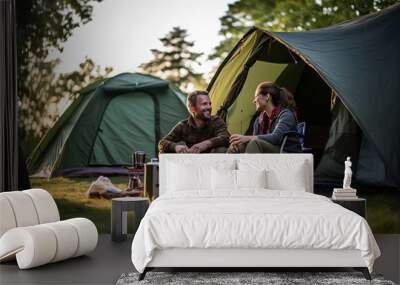
[[[148,272],[142,281],[138,281],[139,273],[124,273],[117,285],[145,284],[379,284],[395,285],[384,280],[381,275],[372,275],[372,281],[364,278],[360,272]]]

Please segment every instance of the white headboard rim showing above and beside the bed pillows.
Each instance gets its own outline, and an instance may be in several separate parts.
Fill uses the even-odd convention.
[[[251,164],[254,162],[257,166],[260,162],[263,165],[267,164],[269,168],[274,168],[274,165],[280,164],[282,162],[287,165],[294,163],[304,162],[304,167],[306,168],[306,191],[314,192],[314,162],[312,154],[160,154],[160,164],[159,164],[159,195],[163,195],[167,189],[168,181],[168,168],[170,163],[184,163],[191,165],[209,165],[213,166],[215,163],[220,163],[221,161],[235,162],[237,165],[240,161]],[[289,179],[289,177],[288,177]]]

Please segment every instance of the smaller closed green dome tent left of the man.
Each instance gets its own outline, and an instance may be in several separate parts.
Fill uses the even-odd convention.
[[[126,173],[134,151],[157,156],[159,139],[188,116],[168,81],[123,73],[85,88],[28,158],[36,176]]]

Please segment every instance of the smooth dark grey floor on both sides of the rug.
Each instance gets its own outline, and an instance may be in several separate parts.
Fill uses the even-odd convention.
[[[382,256],[376,261],[374,272],[400,283],[400,234],[375,238]],[[96,250],[88,256],[29,270],[19,270],[16,262],[3,263],[0,284],[115,284],[122,273],[134,271],[131,243],[132,238],[116,243],[110,235],[101,235]]]

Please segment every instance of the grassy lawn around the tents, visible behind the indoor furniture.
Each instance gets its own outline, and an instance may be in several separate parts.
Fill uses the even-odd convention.
[[[127,187],[127,177],[110,179],[120,189]],[[61,219],[85,217],[96,224],[99,233],[110,233],[111,200],[89,199],[85,195],[93,180],[95,178],[31,178],[31,183],[32,187],[46,189],[53,195]],[[320,190],[317,194],[330,196],[331,191]],[[400,190],[359,190],[358,195],[367,198],[367,220],[374,233],[400,233]],[[129,215],[128,222],[132,219]]]

